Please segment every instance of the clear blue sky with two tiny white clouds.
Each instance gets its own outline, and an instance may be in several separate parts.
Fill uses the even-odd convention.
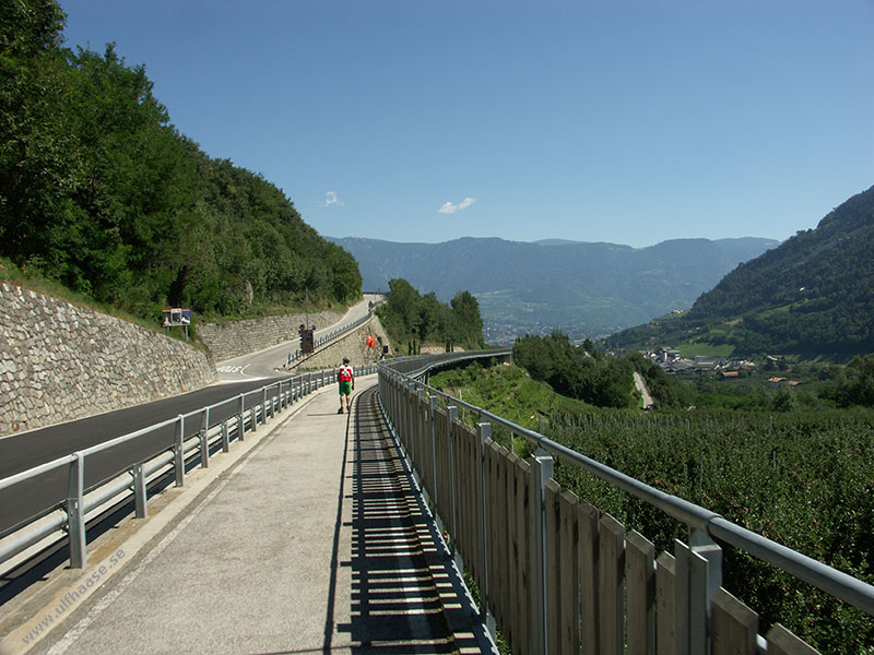
[[[786,239],[874,184],[874,0],[60,0],[332,237]]]

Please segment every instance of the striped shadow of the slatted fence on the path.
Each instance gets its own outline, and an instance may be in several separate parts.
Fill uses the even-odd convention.
[[[453,635],[447,623],[441,593],[451,593],[451,583],[445,553],[433,539],[375,392],[358,396],[350,417],[352,611],[350,624],[336,629],[350,633],[353,653],[480,652],[472,634]]]

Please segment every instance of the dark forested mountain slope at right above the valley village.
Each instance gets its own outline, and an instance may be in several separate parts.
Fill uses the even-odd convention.
[[[610,347],[688,340],[739,354],[874,353],[874,187],[742,264],[687,314],[614,335]]]

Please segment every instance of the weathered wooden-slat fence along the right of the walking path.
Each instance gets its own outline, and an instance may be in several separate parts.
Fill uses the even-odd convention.
[[[519,460],[389,376],[380,395],[451,552],[511,651],[528,654],[693,655],[816,651],[780,624],[710,588],[708,547],[653,545],[562,489],[552,458]],[[543,472],[547,475],[540,480]],[[540,480],[540,481],[539,481]]]

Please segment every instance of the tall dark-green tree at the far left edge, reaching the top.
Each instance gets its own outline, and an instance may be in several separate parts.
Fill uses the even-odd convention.
[[[0,243],[16,264],[40,269],[55,246],[48,230],[82,176],[64,110],[64,21],[54,0],[0,3]]]

